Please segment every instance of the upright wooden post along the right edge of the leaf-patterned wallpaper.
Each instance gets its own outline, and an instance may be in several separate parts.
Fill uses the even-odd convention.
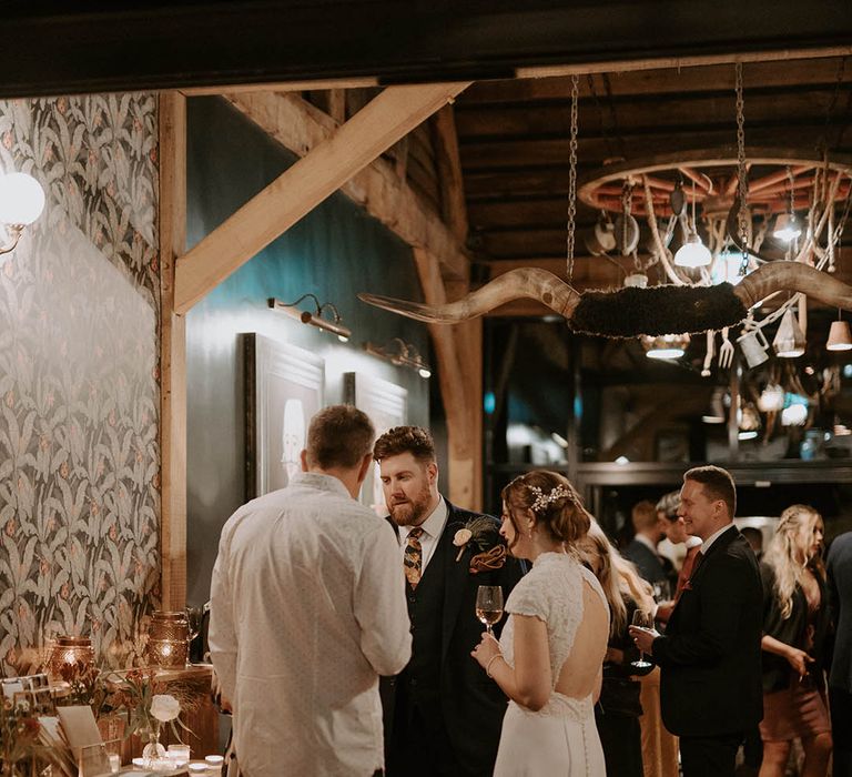
[[[174,312],[186,242],[186,100],[160,95],[160,557],[162,608],[186,604],[186,331]]]

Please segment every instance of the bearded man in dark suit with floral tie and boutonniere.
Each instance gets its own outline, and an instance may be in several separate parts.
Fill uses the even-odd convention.
[[[506,598],[523,569],[505,555],[496,518],[459,509],[438,493],[426,430],[392,428],[376,441],[374,458],[399,537],[414,639],[408,666],[379,684],[387,774],[485,777],[494,770],[507,700],[470,658],[483,633],[476,592],[499,585]]]

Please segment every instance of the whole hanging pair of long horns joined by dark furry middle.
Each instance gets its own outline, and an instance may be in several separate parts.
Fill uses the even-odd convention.
[[[565,316],[575,332],[632,337],[704,332],[733,326],[774,292],[801,292],[832,307],[852,310],[852,286],[800,262],[764,264],[732,286],[651,286],[582,294],[546,270],[525,268],[486,283],[457,302],[426,305],[376,294],[358,299],[409,319],[454,324],[476,319],[513,300],[538,300]]]

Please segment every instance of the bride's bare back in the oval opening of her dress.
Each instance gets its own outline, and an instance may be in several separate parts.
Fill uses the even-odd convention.
[[[555,690],[572,698],[586,698],[597,690],[609,639],[609,609],[585,577],[582,578],[582,618],[574,646],[559,672]]]

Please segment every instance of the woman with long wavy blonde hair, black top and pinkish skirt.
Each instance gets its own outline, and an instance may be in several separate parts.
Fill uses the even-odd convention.
[[[763,764],[783,777],[793,739],[802,740],[802,777],[825,777],[831,724],[822,647],[828,629],[822,517],[805,505],[781,513],[763,562]]]

